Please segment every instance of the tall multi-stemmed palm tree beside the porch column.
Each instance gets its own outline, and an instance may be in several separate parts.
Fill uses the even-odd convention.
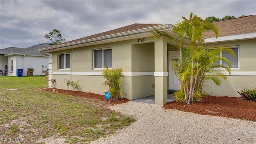
[[[201,101],[204,82],[212,80],[220,85],[220,78],[226,79],[218,67],[226,69],[230,73],[230,60],[222,56],[222,52],[228,52],[234,56],[232,49],[220,46],[218,48],[204,46],[203,32],[213,31],[218,38],[218,28],[202,18],[190,14],[190,18],[182,17],[173,25],[174,35],[168,32],[160,32],[156,29],[150,32],[154,36],[154,41],[161,36],[165,36],[174,41],[180,50],[180,60],[174,62],[174,71],[180,81],[180,91],[175,92],[176,100],[190,104]],[[177,48],[177,47],[176,47]],[[223,60],[228,66],[217,64],[218,60]]]

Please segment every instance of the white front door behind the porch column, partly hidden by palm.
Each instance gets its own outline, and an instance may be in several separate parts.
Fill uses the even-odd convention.
[[[180,81],[172,68],[172,60],[176,58],[180,59],[180,51],[169,51],[169,90],[180,90]]]

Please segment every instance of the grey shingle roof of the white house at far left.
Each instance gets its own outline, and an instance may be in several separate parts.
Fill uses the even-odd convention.
[[[53,44],[45,43],[45,44],[38,44],[35,46],[30,46],[28,48],[4,48],[1,49],[1,54],[25,54],[25,55],[33,55],[33,56],[43,56],[39,52],[36,52],[36,50],[39,50],[41,48],[47,48],[49,46],[52,46]]]

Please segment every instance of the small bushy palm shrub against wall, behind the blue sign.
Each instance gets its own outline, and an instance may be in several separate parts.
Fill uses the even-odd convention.
[[[102,73],[103,77],[106,78],[103,84],[104,86],[109,87],[108,92],[111,93],[110,98],[112,100],[120,99],[121,93],[124,93],[121,90],[121,84],[122,84],[121,78],[124,76],[122,72],[123,72],[122,68],[108,69],[108,67],[106,67]]]

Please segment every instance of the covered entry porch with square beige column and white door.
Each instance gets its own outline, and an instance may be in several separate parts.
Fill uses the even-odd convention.
[[[132,76],[131,99],[164,105],[173,100],[170,90],[179,90],[172,70],[172,59],[179,58],[172,40],[161,37],[154,43],[132,45],[132,72],[150,73]],[[143,98],[142,98],[143,97]]]

